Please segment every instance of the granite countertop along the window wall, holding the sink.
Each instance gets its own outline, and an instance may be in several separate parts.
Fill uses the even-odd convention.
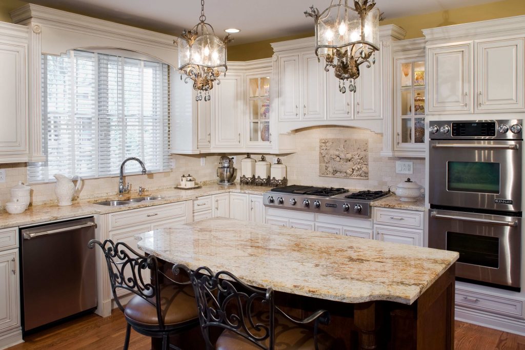
[[[245,186],[245,185],[205,185],[198,189],[160,189],[145,192],[143,196],[159,196],[162,199],[143,201],[124,206],[103,206],[94,204],[95,202],[105,200],[127,200],[134,197],[142,197],[137,193],[126,195],[123,197],[103,196],[91,199],[76,200],[70,206],[59,207],[56,203],[44,204],[37,206],[29,206],[22,214],[9,214],[7,211],[0,210],[0,229],[7,227],[16,227],[24,225],[38,224],[39,222],[54,221],[60,219],[67,219],[78,216],[94,215],[94,214],[109,214],[117,211],[124,211],[130,209],[138,209],[144,207],[151,207],[161,204],[176,203],[178,201],[192,200],[197,197],[214,195],[219,193],[246,193],[260,195],[269,190],[269,187],[262,186]]]

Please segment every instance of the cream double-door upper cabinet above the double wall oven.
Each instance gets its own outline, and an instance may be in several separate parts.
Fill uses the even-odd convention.
[[[431,114],[525,112],[525,16],[425,29]]]

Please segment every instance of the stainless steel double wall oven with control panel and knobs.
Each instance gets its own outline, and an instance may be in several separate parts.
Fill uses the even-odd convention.
[[[430,126],[428,246],[459,252],[459,279],[520,289],[522,122]]]

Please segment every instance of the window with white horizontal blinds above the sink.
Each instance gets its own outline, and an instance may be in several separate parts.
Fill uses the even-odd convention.
[[[45,162],[29,163],[29,182],[54,174],[86,178],[119,174],[126,157],[149,172],[170,169],[169,67],[87,51],[42,56]],[[136,162],[126,173],[140,172]]]

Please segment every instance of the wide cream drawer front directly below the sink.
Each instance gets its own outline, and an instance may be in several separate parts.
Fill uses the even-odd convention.
[[[148,224],[169,218],[186,215],[186,202],[157,205],[149,208],[121,211],[109,214],[109,229],[117,229],[137,224]]]

